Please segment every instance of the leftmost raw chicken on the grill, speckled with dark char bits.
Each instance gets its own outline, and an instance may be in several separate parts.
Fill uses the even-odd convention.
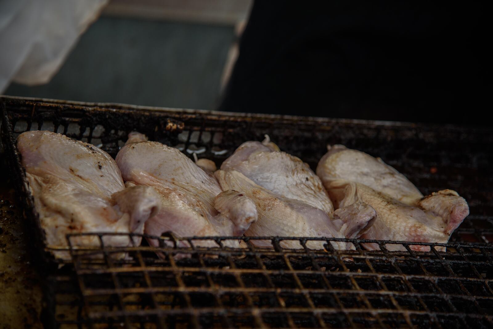
[[[17,147],[26,168],[41,227],[50,246],[67,246],[66,234],[79,232],[142,233],[145,221],[159,211],[152,189],[125,189],[114,160],[94,145],[59,133],[19,135]],[[98,237],[71,238],[74,245],[99,246]],[[139,245],[140,237],[134,242]],[[105,236],[106,246],[127,246],[126,236]],[[69,259],[68,252],[56,257]]]

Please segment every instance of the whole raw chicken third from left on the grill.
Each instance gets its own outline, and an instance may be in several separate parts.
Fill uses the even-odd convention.
[[[240,145],[222,163],[216,178],[222,189],[239,189],[257,205],[258,222],[246,232],[249,236],[357,237],[375,219],[375,211],[365,204],[334,212],[322,182],[309,165],[281,152],[267,135],[263,142]],[[332,244],[337,249],[351,245]]]

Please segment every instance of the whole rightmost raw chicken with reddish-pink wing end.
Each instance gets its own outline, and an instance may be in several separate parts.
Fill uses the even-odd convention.
[[[375,208],[377,220],[362,238],[446,243],[469,214],[467,202],[457,192],[442,190],[423,197],[394,168],[342,145],[329,147],[317,175],[336,207],[364,202]],[[366,247],[378,249],[377,244]],[[428,246],[411,248],[429,251]],[[387,249],[405,250],[400,244],[387,244]]]

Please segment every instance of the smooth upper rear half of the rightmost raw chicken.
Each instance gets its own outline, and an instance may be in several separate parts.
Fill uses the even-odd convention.
[[[317,166],[322,180],[330,177],[361,183],[407,204],[415,204],[423,197],[413,183],[382,159],[344,145],[328,145],[327,149]]]

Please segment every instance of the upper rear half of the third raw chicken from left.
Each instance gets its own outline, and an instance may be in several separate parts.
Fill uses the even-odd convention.
[[[255,184],[284,198],[295,199],[325,211],[332,217],[334,208],[320,178],[299,158],[279,151],[269,136],[260,143],[240,145],[221,165],[222,170],[237,170]]]

